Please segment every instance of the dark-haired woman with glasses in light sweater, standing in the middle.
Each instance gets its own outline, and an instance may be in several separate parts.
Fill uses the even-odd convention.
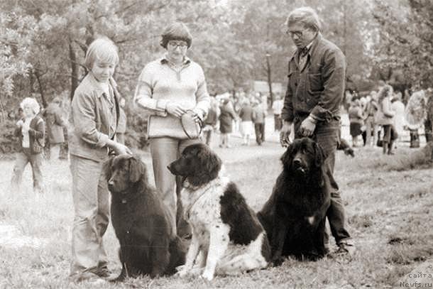
[[[185,147],[200,141],[185,133],[182,115],[192,111],[194,120],[202,121],[210,106],[202,67],[187,57],[191,43],[192,36],[185,24],[177,22],[165,28],[160,41],[165,54],[144,67],[134,97],[134,102],[149,114],[148,137],[155,185],[170,208],[173,228],[176,231],[179,227],[179,236],[189,234],[189,228],[176,222],[176,216],[181,216],[177,212],[176,180],[167,166]]]

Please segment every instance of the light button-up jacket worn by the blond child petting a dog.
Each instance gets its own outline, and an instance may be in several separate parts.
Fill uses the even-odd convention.
[[[109,87],[113,93],[107,96],[89,73],[75,89],[68,129],[71,155],[95,161],[108,157],[106,143],[114,138],[119,121],[119,92],[114,80]]]

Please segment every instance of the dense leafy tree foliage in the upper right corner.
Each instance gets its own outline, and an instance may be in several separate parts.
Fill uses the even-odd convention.
[[[433,2],[375,0],[376,65],[400,70],[406,82],[427,88],[433,81]]]

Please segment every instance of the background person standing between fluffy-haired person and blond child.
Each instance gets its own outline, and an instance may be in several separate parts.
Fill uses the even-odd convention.
[[[63,130],[67,129],[67,126],[62,117],[61,104],[62,99],[60,99],[60,97],[55,97],[43,112],[43,116],[45,116],[46,124],[48,126],[50,160],[59,159],[60,148],[63,143],[65,143],[65,134]]]

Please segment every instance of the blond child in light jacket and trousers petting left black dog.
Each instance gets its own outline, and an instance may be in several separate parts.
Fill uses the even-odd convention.
[[[108,38],[94,40],[84,59],[87,70],[71,102],[68,131],[72,200],[70,278],[99,284],[110,278],[103,236],[109,224],[109,190],[104,162],[109,151],[131,154],[115,139],[119,118],[119,93],[112,79],[119,54]]]

